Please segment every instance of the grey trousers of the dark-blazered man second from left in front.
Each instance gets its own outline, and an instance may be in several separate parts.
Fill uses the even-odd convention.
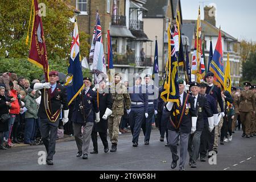
[[[93,122],[87,122],[83,127],[83,133],[81,133],[82,123],[73,122],[73,130],[76,140],[76,145],[79,152],[82,154],[88,154],[88,149],[90,145],[90,135],[92,134]]]

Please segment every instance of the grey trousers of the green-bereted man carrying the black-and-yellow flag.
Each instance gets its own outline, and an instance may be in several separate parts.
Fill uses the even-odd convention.
[[[179,142],[180,137],[180,165],[179,167],[184,167],[186,158],[187,158],[187,152],[188,152],[188,137],[189,133],[181,133],[179,131],[171,131],[168,130],[168,143],[170,145],[171,153],[172,153],[172,160],[177,160],[177,144]]]

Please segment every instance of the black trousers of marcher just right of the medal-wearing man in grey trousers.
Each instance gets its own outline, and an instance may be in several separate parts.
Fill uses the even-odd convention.
[[[205,121],[208,123],[208,120]],[[213,144],[214,144],[214,129],[212,132],[209,131],[209,126],[205,125],[204,130],[201,134],[201,139],[200,139],[200,148],[199,148],[199,153],[200,156],[206,157],[207,156],[207,151],[212,151]]]

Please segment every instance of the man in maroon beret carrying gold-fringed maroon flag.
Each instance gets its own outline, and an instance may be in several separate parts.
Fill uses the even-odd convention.
[[[38,116],[40,118],[40,132],[44,146],[47,151],[46,163],[53,165],[53,155],[55,154],[55,144],[57,137],[57,128],[59,126],[60,107],[63,105],[63,125],[68,122],[68,100],[67,90],[64,86],[57,84],[58,72],[49,72],[49,65],[47,59],[46,42],[44,39],[43,23],[40,17],[40,10],[38,9],[38,1],[32,0],[31,5],[34,10],[32,30],[31,30],[31,43],[28,61],[43,68],[46,83],[36,83],[32,88],[40,90],[42,98],[40,101]],[[39,13],[38,13],[39,12]],[[32,18],[30,16],[30,19]],[[30,25],[28,26],[28,32]],[[26,39],[28,44],[28,36]]]

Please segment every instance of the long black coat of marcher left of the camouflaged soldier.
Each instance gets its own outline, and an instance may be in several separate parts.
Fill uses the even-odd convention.
[[[106,108],[108,107],[110,110],[112,110],[112,96],[110,93],[100,93],[99,94],[99,101],[100,101],[100,119],[101,121],[96,123],[93,126],[93,131],[98,133],[106,133],[108,130],[108,119],[104,120],[102,119],[102,116],[105,114]]]

